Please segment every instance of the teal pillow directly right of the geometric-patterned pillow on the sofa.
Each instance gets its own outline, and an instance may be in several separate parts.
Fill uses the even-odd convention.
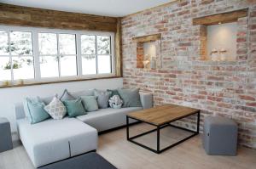
[[[76,117],[86,114],[82,104],[82,99],[80,98],[75,100],[65,100],[63,101],[63,104],[67,108],[67,114],[69,117]]]

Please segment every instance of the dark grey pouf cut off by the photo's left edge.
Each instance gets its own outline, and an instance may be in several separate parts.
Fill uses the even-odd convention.
[[[9,149],[13,149],[9,121],[0,118],[0,153]]]

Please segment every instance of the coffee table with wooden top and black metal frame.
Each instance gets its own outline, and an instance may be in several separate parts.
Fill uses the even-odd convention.
[[[180,119],[183,119],[184,117],[187,117],[189,115],[195,115],[197,114],[197,128],[196,131],[183,128],[183,127],[177,127],[171,124],[173,121],[177,121]],[[156,127],[154,130],[150,130],[148,132],[143,132],[141,134],[138,134],[136,136],[133,136],[130,138],[129,136],[129,119],[134,119],[137,121],[145,122],[150,125],[153,125]],[[127,140],[131,143],[137,144],[145,149],[151,150],[154,153],[160,154],[161,152],[165,151],[166,149],[170,149],[173,146],[176,146],[177,144],[183,143],[183,141],[194,137],[199,133],[199,124],[200,124],[200,110],[196,110],[189,107],[174,105],[174,104],[165,104],[160,105],[151,109],[147,110],[139,110],[136,112],[132,112],[128,115],[126,115],[126,134],[127,134]],[[187,132],[192,132],[192,135],[190,135],[187,138],[183,138],[182,140],[178,141],[175,144],[172,144],[164,149],[160,149],[160,129],[164,127],[176,127],[182,130],[185,130]],[[140,144],[137,141],[135,141],[135,138],[142,137],[150,132],[157,132],[157,146],[156,149],[152,149],[146,145]]]

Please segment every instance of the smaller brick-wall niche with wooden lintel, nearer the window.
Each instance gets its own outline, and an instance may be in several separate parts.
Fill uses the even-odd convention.
[[[137,68],[160,69],[161,62],[161,34],[133,37],[137,43]]]

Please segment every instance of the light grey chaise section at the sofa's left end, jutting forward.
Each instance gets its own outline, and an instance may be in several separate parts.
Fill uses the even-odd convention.
[[[36,167],[97,148],[96,129],[75,118],[49,119],[34,125],[21,119],[17,124],[22,144]]]

